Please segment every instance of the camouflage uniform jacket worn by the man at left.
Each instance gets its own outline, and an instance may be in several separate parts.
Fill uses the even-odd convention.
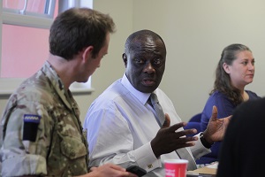
[[[11,95],[0,130],[3,176],[87,173],[78,105],[48,62]]]

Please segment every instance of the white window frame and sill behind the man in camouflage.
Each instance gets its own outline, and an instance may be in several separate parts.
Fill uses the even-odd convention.
[[[53,22],[53,13],[55,9],[55,4],[57,0],[49,0],[51,5],[50,8],[53,8],[53,12],[49,12],[48,15],[35,14],[26,12],[25,14],[14,13],[10,10],[3,8],[3,0],[0,0],[0,53],[2,54],[2,28],[3,24],[7,25],[16,25],[22,27],[36,27],[49,29]],[[63,2],[63,3],[62,3]],[[93,7],[93,1],[87,0],[64,0],[59,1],[59,12],[71,7]],[[0,70],[2,55],[0,55]],[[25,81],[27,78],[1,78],[0,76],[0,96],[11,95],[19,87],[22,81]],[[72,93],[91,93],[95,89],[91,87],[91,77],[86,83],[77,83],[74,82],[70,86]]]

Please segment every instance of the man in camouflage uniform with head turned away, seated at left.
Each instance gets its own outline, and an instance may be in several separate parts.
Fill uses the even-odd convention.
[[[0,124],[3,176],[134,176],[117,165],[88,169],[86,136],[69,90],[85,82],[108,52],[115,24],[109,15],[72,8],[50,28],[42,69],[8,100]]]

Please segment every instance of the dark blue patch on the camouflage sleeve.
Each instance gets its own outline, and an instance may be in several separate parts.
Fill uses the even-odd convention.
[[[23,140],[35,142],[41,116],[24,114]]]

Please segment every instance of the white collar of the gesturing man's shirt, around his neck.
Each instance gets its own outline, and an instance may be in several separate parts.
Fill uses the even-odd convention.
[[[121,83],[125,86],[126,89],[128,89],[133,94],[133,96],[135,96],[137,99],[139,99],[140,103],[146,104],[148,102],[148,98],[151,95],[151,93],[143,93],[143,92],[140,92],[137,89],[134,89],[133,85],[128,80],[128,78],[127,78],[125,73],[124,73],[124,76],[123,76],[123,78],[121,80]]]

